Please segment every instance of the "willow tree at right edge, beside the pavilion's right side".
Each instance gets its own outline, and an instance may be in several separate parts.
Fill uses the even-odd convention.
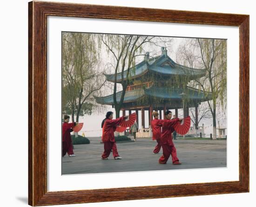
[[[216,106],[226,108],[227,99],[227,41],[217,39],[190,39],[179,48],[183,63],[189,67],[199,67],[206,71],[202,78],[190,82],[190,86],[202,90],[207,100],[213,120],[213,139],[216,139]]]

